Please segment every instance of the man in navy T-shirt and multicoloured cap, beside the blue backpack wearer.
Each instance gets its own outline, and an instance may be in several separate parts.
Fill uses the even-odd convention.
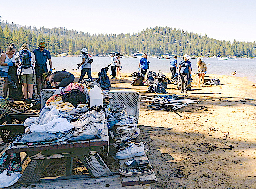
[[[40,95],[40,92],[42,90],[42,75],[43,73],[48,72],[46,64],[47,60],[49,61],[50,71],[53,72],[51,54],[49,51],[45,50],[44,42],[39,42],[39,48],[35,49],[33,53],[36,56],[35,72],[37,78],[37,94]]]

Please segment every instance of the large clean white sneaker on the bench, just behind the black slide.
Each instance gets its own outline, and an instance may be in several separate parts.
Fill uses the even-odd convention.
[[[127,159],[131,157],[143,156],[145,154],[143,143],[140,146],[136,146],[135,144],[130,144],[123,151],[117,152],[115,157],[117,159]]]

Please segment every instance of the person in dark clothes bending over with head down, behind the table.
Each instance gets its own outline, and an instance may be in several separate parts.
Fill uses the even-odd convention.
[[[75,80],[75,76],[67,71],[56,71],[54,73],[49,71],[43,74],[43,78],[45,88],[47,87],[46,81],[49,81],[51,86],[66,87]]]

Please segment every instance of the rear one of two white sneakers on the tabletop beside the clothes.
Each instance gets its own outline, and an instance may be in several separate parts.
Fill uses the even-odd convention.
[[[73,121],[71,122],[75,129],[80,129],[82,128],[85,124],[88,123],[89,120],[91,120],[92,122],[96,122],[96,123],[99,123],[99,122],[105,122],[105,114],[98,114],[98,115],[95,115],[95,114],[86,114],[84,115],[82,118],[80,118],[78,121]]]

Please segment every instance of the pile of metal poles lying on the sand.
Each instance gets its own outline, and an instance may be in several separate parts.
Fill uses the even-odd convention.
[[[162,95],[155,97],[141,96],[146,98],[145,100],[141,100],[141,102],[149,103],[147,105],[148,110],[177,110],[182,108],[190,103],[198,104],[198,99],[188,99],[186,95]]]

